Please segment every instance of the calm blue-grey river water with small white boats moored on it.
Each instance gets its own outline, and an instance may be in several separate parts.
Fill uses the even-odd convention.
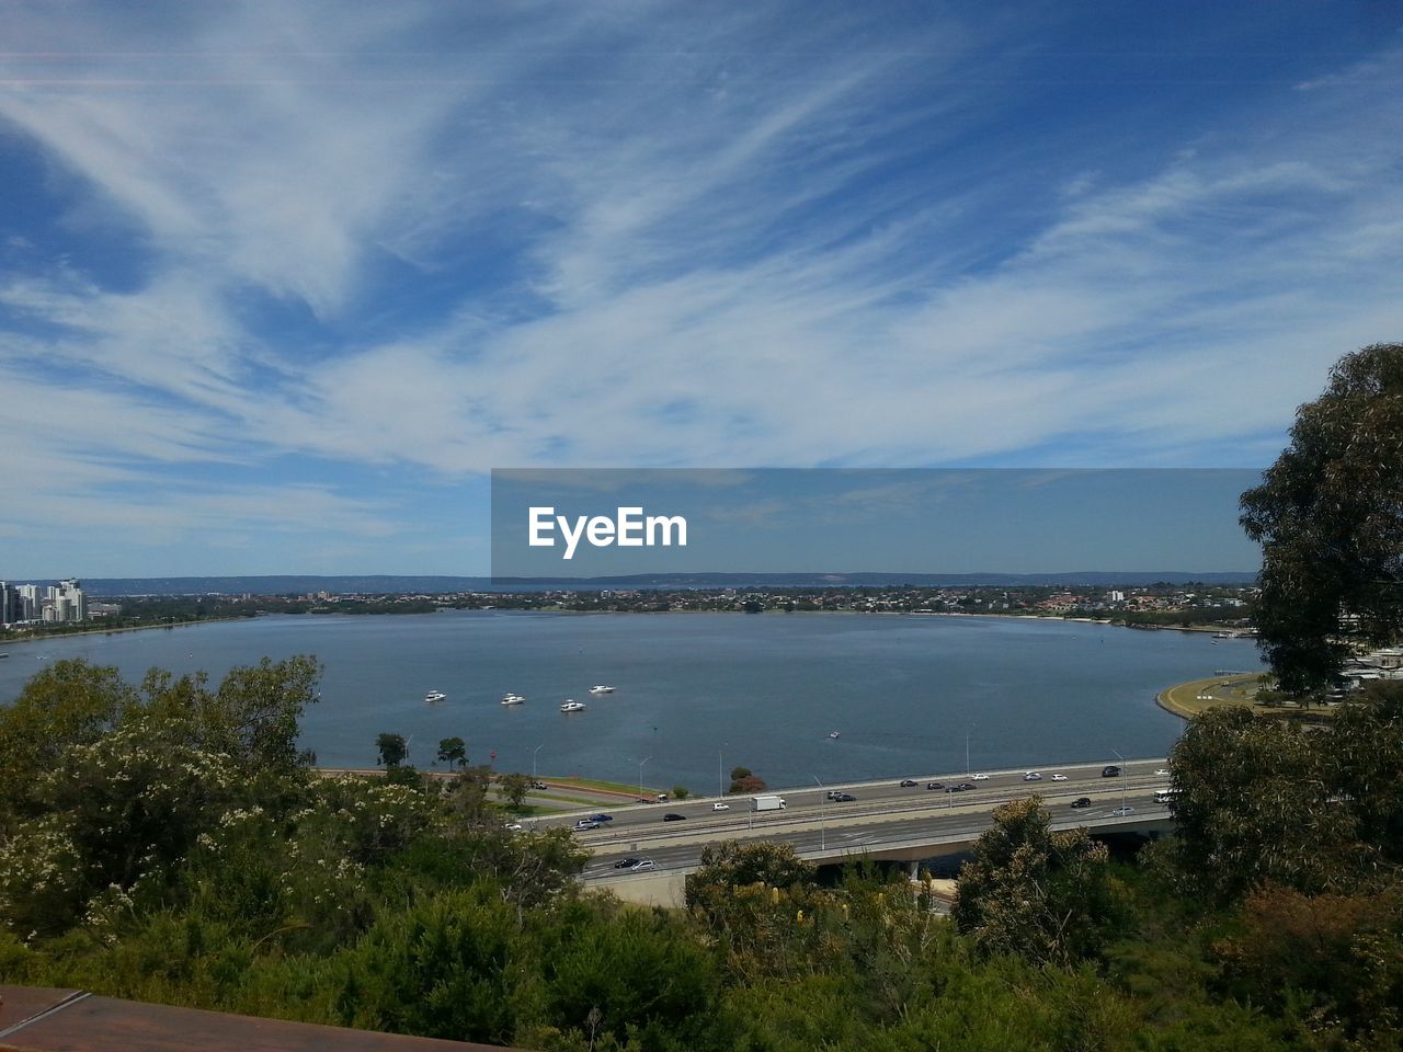
[[[1160,689],[1260,668],[1251,642],[1204,633],[836,613],[283,616],[0,649],[4,701],[58,658],[217,682],[314,654],[325,675],[303,741],[324,764],[372,766],[375,736],[396,731],[429,766],[459,735],[501,770],[529,773],[535,753],[542,774],[636,783],[647,759],[647,784],[693,791],[716,788],[718,753],[772,785],[962,770],[967,732],[975,770],[1162,756],[1183,722],[1155,706]],[[592,697],[595,683],[617,692]],[[428,706],[429,690],[449,697]],[[506,692],[526,704],[498,704]],[[588,708],[560,713],[570,697]]]

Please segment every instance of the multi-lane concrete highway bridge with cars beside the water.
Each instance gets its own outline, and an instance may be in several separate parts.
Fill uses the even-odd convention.
[[[630,901],[679,905],[683,878],[696,871],[702,849],[723,840],[790,843],[801,858],[818,864],[856,858],[899,861],[915,875],[925,860],[968,850],[989,828],[1000,804],[1031,795],[1042,798],[1054,829],[1167,832],[1169,811],[1155,801],[1156,790],[1169,788],[1166,764],[1163,757],[1117,760],[1118,777],[1103,777],[1106,764],[1094,763],[1038,767],[1037,780],[1026,780],[1028,770],[1017,769],[908,778],[913,785],[884,780],[770,790],[784,798],[783,811],[752,812],[749,797],[630,805],[607,811],[612,821],[575,836],[593,851],[582,874],[586,884],[609,888]],[[939,783],[940,788],[927,788],[930,783]],[[974,788],[947,791],[953,784]],[[833,801],[829,791],[854,800]],[[1089,805],[1073,808],[1072,802],[1082,798]],[[716,811],[716,804],[728,809]],[[599,811],[551,815],[540,819],[537,828],[568,828],[593,814]],[[682,819],[668,821],[665,815]],[[616,870],[615,863],[627,857],[651,858],[655,868]]]

